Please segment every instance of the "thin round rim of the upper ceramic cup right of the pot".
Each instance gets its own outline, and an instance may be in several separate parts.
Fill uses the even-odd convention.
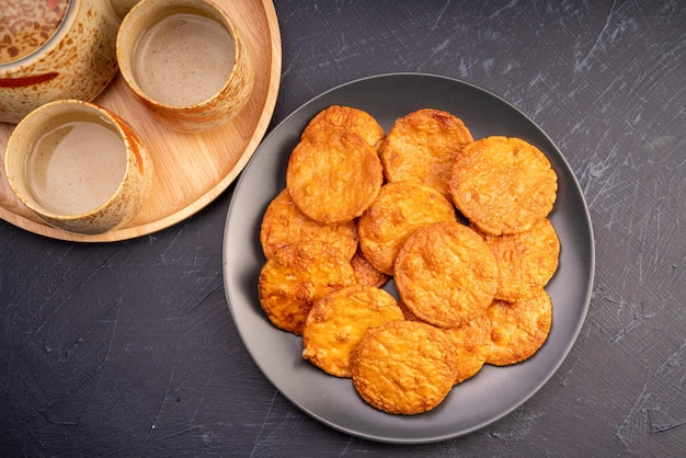
[[[227,87],[231,84],[232,80],[235,79],[235,75],[238,71],[237,62],[239,61],[239,59],[243,58],[242,56],[243,49],[240,44],[240,36],[238,34],[236,25],[233,24],[233,21],[231,20],[231,18],[229,18],[228,13],[222,8],[220,8],[217,3],[215,3],[213,0],[191,0],[191,2],[204,3],[205,5],[209,7],[211,10],[214,10],[217,16],[221,19],[222,21],[221,26],[224,26],[229,32],[229,35],[231,36],[231,41],[233,42],[233,50],[235,50],[233,65],[231,66],[231,72],[229,73],[228,78],[226,79],[221,88],[219,88],[217,92],[215,92],[210,98],[203,100],[202,102],[197,102],[197,103],[193,103],[188,105],[170,105],[170,104],[152,99],[148,93],[146,93],[140,88],[134,75],[130,75],[127,71],[129,70],[129,67],[130,67],[130,70],[133,72],[133,65],[122,65],[122,62],[125,60],[130,61],[130,57],[134,53],[134,49],[130,49],[129,59],[124,59],[123,57],[124,51],[122,50],[124,46],[122,44],[122,41],[124,39],[123,36],[126,33],[127,27],[129,27],[130,23],[137,19],[136,11],[145,8],[145,4],[147,3],[156,3],[156,2],[158,3],[160,10],[164,10],[165,8],[169,9],[170,7],[185,7],[186,5],[185,0],[141,0],[138,3],[136,3],[134,8],[130,9],[130,11],[126,14],[126,16],[124,16],[124,20],[122,20],[122,24],[119,25],[119,30],[117,31],[116,58],[117,58],[117,64],[119,66],[119,73],[122,75],[122,78],[124,79],[124,81],[126,81],[126,84],[128,85],[128,88],[133,90],[136,93],[136,95],[138,95],[141,100],[144,100],[146,104],[160,107],[170,112],[171,111],[184,112],[184,111],[191,111],[191,110],[203,110],[211,105],[214,101],[217,99],[217,96],[221,92],[224,92],[227,89]],[[172,14],[174,14],[174,12],[170,11],[168,14],[164,14],[163,19],[169,18]],[[208,18],[208,19],[216,21],[215,18]],[[140,34],[136,34],[135,37],[132,38],[132,44],[134,48],[136,46],[136,43],[140,39],[140,37],[144,34],[145,32]]]

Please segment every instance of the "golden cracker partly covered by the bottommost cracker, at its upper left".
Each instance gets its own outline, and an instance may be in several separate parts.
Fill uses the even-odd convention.
[[[351,353],[367,331],[402,320],[396,299],[382,289],[352,285],[319,299],[302,332],[302,357],[336,377],[351,377]]]

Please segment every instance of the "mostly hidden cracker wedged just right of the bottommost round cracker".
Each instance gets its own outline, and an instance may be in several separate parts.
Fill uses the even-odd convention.
[[[491,320],[482,313],[473,320],[444,330],[457,353],[455,383],[476,376],[485,363],[491,348]]]

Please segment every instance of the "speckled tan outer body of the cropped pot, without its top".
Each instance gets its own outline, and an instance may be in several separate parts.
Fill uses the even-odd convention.
[[[121,19],[108,0],[71,0],[53,39],[0,66],[0,122],[19,123],[55,100],[93,100],[117,72]]]

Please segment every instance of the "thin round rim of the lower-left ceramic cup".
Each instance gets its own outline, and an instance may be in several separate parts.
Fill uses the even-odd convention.
[[[16,175],[21,175],[22,178],[26,178],[26,172],[25,172],[25,162],[27,159],[27,152],[26,151],[21,151],[21,154],[23,156],[22,158],[22,169],[21,170],[12,170],[11,171],[11,167],[10,167],[10,156],[12,156],[13,153],[15,153],[14,148],[12,148],[12,145],[16,138],[18,135],[21,135],[21,129],[22,129],[22,123],[24,123],[24,121],[26,119],[31,119],[33,117],[36,116],[42,116],[43,112],[47,111],[47,110],[52,110],[54,106],[64,106],[65,108],[62,110],[68,110],[69,106],[78,106],[78,110],[84,110],[88,113],[94,113],[98,116],[100,116],[101,118],[104,116],[104,121],[106,121],[107,123],[110,123],[114,129],[116,130],[116,134],[118,135],[119,139],[124,142],[124,146],[126,148],[126,150],[128,151],[130,145],[129,145],[129,140],[127,138],[127,136],[125,135],[125,133],[122,130],[122,127],[119,125],[118,122],[118,117],[111,111],[108,111],[107,108],[96,105],[94,103],[91,102],[87,102],[87,101],[82,101],[82,100],[77,100],[77,99],[64,99],[64,100],[56,100],[53,102],[48,102],[44,105],[38,106],[37,108],[33,110],[31,113],[28,113],[14,128],[14,130],[12,131],[12,134],[10,135],[10,138],[8,140],[8,146],[5,149],[5,154],[4,154],[4,171],[7,174],[7,180],[10,184],[10,187],[12,188],[12,191],[14,192],[14,195],[16,195],[16,197],[32,211],[36,213],[37,215],[44,216],[46,218],[49,218],[52,220],[59,220],[59,221],[78,221],[81,219],[85,219],[85,218],[90,218],[94,215],[98,215],[99,213],[102,211],[103,208],[105,208],[106,206],[108,206],[115,198],[117,198],[119,196],[119,194],[122,193],[122,188],[124,186],[124,183],[126,181],[126,178],[128,176],[128,174],[130,173],[130,167],[132,167],[132,161],[129,158],[128,152],[126,153],[125,160],[126,160],[126,168],[124,170],[124,174],[122,176],[122,179],[119,180],[119,184],[117,185],[116,190],[107,197],[107,199],[105,202],[103,202],[102,204],[100,204],[98,207],[92,208],[88,211],[84,213],[79,213],[79,214],[75,214],[75,215],[65,215],[65,214],[59,214],[59,213],[54,213],[50,211],[49,209],[45,208],[44,206],[39,205],[34,196],[26,196],[24,195],[24,193],[22,193],[15,185],[14,181],[16,180]],[[56,114],[59,114],[60,112],[57,112]],[[64,112],[61,112],[64,113]],[[41,123],[41,125],[43,125],[43,123]],[[18,134],[19,133],[19,134]],[[13,173],[11,173],[13,172]],[[31,194],[31,193],[28,193]]]

